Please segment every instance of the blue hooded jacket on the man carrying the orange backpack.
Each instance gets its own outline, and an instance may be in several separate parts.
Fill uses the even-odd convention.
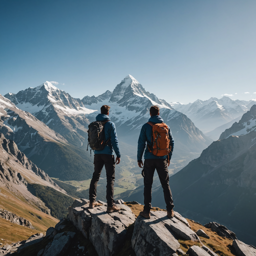
[[[161,123],[163,122],[163,119],[161,118],[161,116],[159,115],[153,115],[151,116],[148,121],[153,122],[153,123]],[[168,126],[168,125],[167,125]],[[169,128],[169,138],[170,138],[170,145],[171,145],[171,151],[169,153],[169,158],[171,158],[172,155],[172,150],[173,150],[173,146],[174,146],[174,140],[170,131],[170,127]],[[138,149],[137,149],[137,160],[141,161],[142,160],[142,155],[143,155],[143,151],[145,149],[144,152],[144,159],[159,159],[159,158],[167,158],[167,155],[164,156],[156,156],[154,154],[152,154],[151,152],[149,152],[146,143],[149,145],[149,147],[152,145],[151,143],[151,136],[152,136],[152,126],[148,123],[143,124],[143,126],[141,127],[140,130],[140,134],[138,137]]]

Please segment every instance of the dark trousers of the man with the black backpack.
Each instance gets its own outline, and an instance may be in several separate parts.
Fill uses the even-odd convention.
[[[94,154],[94,172],[90,181],[89,200],[94,202],[96,199],[97,182],[104,165],[106,169],[106,202],[107,206],[113,206],[115,163],[112,154]]]

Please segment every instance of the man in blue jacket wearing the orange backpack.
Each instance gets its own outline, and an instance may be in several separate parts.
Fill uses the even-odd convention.
[[[173,204],[172,194],[169,187],[169,175],[168,175],[167,166],[169,166],[170,164],[170,158],[172,155],[174,141],[173,141],[169,126],[163,123],[163,119],[159,116],[159,107],[155,105],[151,106],[149,113],[150,113],[150,118],[148,119],[148,122],[143,124],[143,126],[141,127],[139,138],[138,138],[138,148],[137,148],[138,166],[140,168],[143,168],[142,154],[146,146],[146,149],[144,152],[144,168],[141,172],[141,174],[144,176],[144,209],[143,211],[140,211],[139,215],[145,218],[150,218],[151,187],[153,183],[154,170],[156,169],[162,188],[163,188],[167,216],[169,218],[172,218],[174,216],[174,212],[172,209],[174,207],[174,204]],[[165,134],[163,134],[162,136],[158,136],[157,138],[157,139],[160,139],[159,137],[161,137],[162,139],[164,138],[163,142],[167,143],[167,146],[169,144],[170,148],[166,148],[166,145],[165,145],[165,148],[164,148],[165,151],[159,150],[159,148],[156,147],[156,143],[152,143],[153,139],[155,139],[155,138],[152,138],[154,124],[156,124],[156,126],[158,124],[160,126],[165,125],[165,128],[160,127],[162,130],[165,129]],[[162,133],[159,133],[159,134],[162,134]],[[162,152],[159,153],[160,151]],[[158,156],[159,154],[165,154],[165,155]]]

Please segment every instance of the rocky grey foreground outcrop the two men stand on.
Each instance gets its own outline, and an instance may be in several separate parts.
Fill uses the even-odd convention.
[[[38,233],[29,239],[5,245],[0,255],[37,255],[37,256],[255,256],[256,248],[235,238],[235,234],[224,226],[209,223],[205,228],[199,223],[183,218],[178,212],[169,219],[166,211],[152,209],[151,217],[145,219],[132,212],[142,205],[137,202],[123,204],[118,212],[106,213],[106,203],[89,208],[87,199],[76,199],[68,208],[67,218],[61,219],[55,227],[47,229],[46,234]],[[131,203],[136,204],[130,207]],[[129,205],[129,206],[128,206]],[[193,226],[191,226],[193,225]],[[204,230],[197,230],[200,225]],[[231,238],[218,236],[211,229],[222,228]],[[221,251],[210,237],[228,243],[230,250]],[[219,237],[222,237],[221,239]],[[212,243],[211,243],[212,242]],[[225,253],[225,254],[223,254]]]

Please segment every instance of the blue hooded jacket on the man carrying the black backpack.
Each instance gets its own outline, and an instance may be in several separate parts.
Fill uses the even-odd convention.
[[[109,120],[104,124],[104,135],[105,140],[107,140],[110,137],[110,140],[107,142],[103,150],[94,150],[94,154],[116,154],[117,157],[120,157],[120,150],[119,150],[119,144],[116,134],[115,125],[113,122],[110,121],[110,118],[106,114],[98,114],[96,116],[96,121],[105,121]]]

